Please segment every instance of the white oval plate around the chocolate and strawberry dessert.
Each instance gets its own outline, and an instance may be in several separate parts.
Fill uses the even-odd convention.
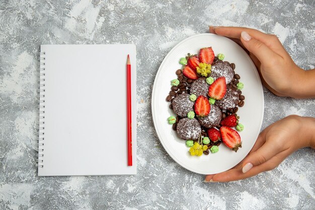
[[[240,122],[244,124],[245,129],[239,132],[243,143],[237,153],[222,143],[219,152],[197,157],[189,154],[185,141],[177,136],[172,125],[168,123],[167,118],[175,113],[169,108],[170,103],[166,102],[166,97],[170,92],[171,80],[177,78],[176,70],[181,68],[179,59],[187,53],[197,54],[200,48],[209,46],[215,55],[223,53],[224,60],[235,63],[235,72],[245,84],[242,90],[246,97],[245,105],[238,111]],[[157,136],[173,160],[198,174],[216,174],[240,163],[253,148],[263,121],[263,88],[253,61],[242,47],[226,37],[198,34],[181,41],[164,58],[154,80],[151,108]]]

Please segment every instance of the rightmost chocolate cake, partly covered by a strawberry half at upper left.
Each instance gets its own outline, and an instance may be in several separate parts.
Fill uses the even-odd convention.
[[[232,89],[230,86],[226,87],[226,93],[222,100],[216,101],[220,109],[232,110],[239,102],[239,94],[237,91]]]

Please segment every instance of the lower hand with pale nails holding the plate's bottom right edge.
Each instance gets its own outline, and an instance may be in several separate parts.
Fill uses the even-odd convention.
[[[264,129],[249,155],[234,168],[207,175],[205,182],[245,179],[276,168],[286,157],[303,147],[315,148],[315,118],[290,115]]]

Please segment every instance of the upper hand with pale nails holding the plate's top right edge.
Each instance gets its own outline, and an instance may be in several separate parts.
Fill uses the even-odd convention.
[[[249,51],[262,83],[275,95],[294,98],[315,95],[315,91],[305,83],[305,80],[309,80],[305,77],[305,71],[294,63],[277,36],[242,27],[211,26],[209,31],[226,36]],[[314,76],[312,74],[313,79]]]

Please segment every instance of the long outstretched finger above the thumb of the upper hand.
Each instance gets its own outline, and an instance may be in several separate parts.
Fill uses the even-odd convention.
[[[253,36],[255,39],[263,42],[265,45],[273,49],[275,52],[279,52],[283,56],[284,54],[285,55],[287,54],[278,37],[272,34],[265,34],[259,30],[245,27],[213,27],[212,30],[217,35],[237,39],[240,39],[241,33],[245,31],[251,34],[251,36]]]

